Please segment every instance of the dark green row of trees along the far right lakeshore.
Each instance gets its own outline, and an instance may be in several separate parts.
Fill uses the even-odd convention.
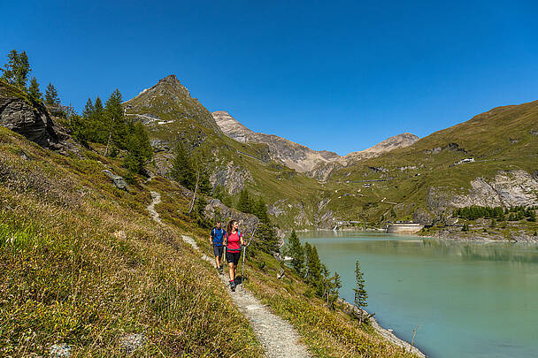
[[[464,208],[454,209],[452,217],[465,218],[467,220],[476,220],[484,217],[496,219],[498,221],[518,221],[526,218],[528,221],[536,221],[536,207],[514,206],[510,208],[495,208],[488,206],[466,206]]]

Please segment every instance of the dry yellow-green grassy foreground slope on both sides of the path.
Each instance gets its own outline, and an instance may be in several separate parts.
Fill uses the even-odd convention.
[[[43,355],[58,343],[75,356],[122,355],[121,339],[133,332],[147,339],[137,355],[262,355],[214,269],[180,239],[193,234],[209,250],[207,232],[181,214],[181,187],[156,178],[118,190],[102,173],[122,173],[114,160],[85,150],[59,156],[3,127],[0,154],[0,355]],[[166,227],[146,211],[150,190],[163,194]],[[305,298],[288,269],[282,285],[279,265],[258,254],[249,286],[296,325],[312,353],[407,356]]]

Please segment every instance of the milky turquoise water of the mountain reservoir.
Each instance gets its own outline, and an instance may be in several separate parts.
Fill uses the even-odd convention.
[[[300,232],[342,276],[355,261],[366,310],[430,357],[538,357],[538,246],[422,240],[364,232]]]

